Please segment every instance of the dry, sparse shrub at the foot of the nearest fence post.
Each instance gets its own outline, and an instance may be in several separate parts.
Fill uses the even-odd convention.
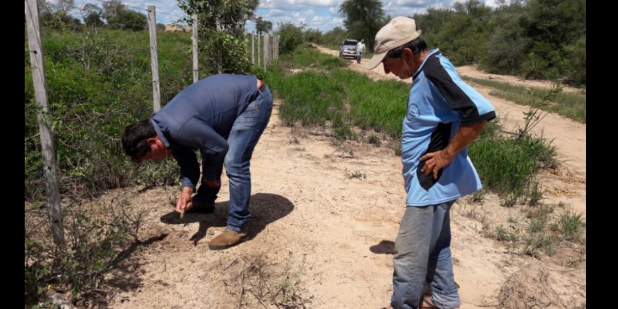
[[[44,223],[26,227],[26,303],[37,303],[50,288],[70,290],[73,297],[97,288],[106,272],[142,244],[138,236],[145,214],[145,209],[133,209],[122,194],[97,209],[64,203],[65,243],[57,246],[50,241],[44,210],[26,212],[27,222]]]

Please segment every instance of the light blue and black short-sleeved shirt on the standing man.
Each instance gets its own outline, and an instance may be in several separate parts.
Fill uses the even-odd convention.
[[[462,124],[496,118],[494,106],[462,81],[449,59],[431,50],[413,75],[402,129],[402,163],[406,205],[436,205],[480,190],[467,147],[438,173],[424,176],[425,153],[447,147]]]

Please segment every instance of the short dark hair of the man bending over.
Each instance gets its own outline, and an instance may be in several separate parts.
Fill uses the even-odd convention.
[[[133,161],[139,162],[140,158],[150,151],[148,139],[156,135],[150,119],[135,122],[122,131],[122,148]]]

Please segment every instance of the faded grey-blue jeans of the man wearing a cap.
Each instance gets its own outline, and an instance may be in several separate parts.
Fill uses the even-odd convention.
[[[438,308],[460,305],[450,247],[449,214],[454,202],[406,207],[395,239],[393,308],[418,308],[425,282],[429,284],[431,300]]]

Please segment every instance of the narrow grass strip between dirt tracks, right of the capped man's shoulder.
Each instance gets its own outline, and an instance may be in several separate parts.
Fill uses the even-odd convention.
[[[531,102],[539,101],[547,90],[541,88],[527,88],[515,86],[505,82],[496,82],[487,79],[477,79],[472,77],[462,77],[463,79],[494,88],[489,94],[501,97],[521,105],[530,105]],[[565,93],[561,91],[556,95],[552,102],[541,106],[544,111],[552,111],[570,118],[577,122],[586,123],[586,94]]]

